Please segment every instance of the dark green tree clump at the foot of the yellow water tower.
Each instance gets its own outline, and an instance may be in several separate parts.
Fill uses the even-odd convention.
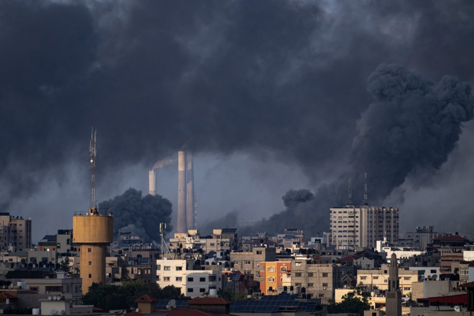
[[[148,294],[156,299],[185,300],[189,297],[181,294],[181,289],[172,285],[160,288],[157,283],[145,283],[142,280],[130,280],[122,285],[92,283],[82,301],[104,311],[135,308],[135,300]]]

